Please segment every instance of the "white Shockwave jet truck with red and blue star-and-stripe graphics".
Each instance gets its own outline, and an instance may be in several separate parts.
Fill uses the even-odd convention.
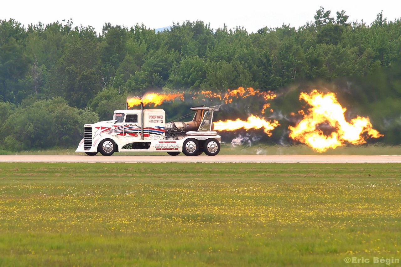
[[[166,123],[163,109],[126,109],[114,111],[113,119],[83,126],[83,139],[76,152],[94,156],[98,152],[167,152],[176,156],[215,156],[220,151],[221,136],[213,131],[213,112],[220,105],[192,107],[192,121]]]

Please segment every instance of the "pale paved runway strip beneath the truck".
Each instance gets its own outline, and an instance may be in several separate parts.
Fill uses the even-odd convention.
[[[87,155],[0,155],[0,162],[205,162],[205,163],[401,163],[400,155],[217,155],[217,156],[87,156]]]

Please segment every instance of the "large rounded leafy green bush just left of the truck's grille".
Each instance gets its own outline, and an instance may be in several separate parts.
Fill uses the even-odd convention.
[[[61,97],[30,102],[22,102],[4,123],[4,146],[8,150],[77,146],[83,134],[81,117],[97,117],[69,107]]]

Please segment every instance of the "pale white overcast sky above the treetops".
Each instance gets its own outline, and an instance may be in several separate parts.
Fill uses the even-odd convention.
[[[92,26],[101,32],[105,22],[130,28],[144,24],[147,28],[165,28],[173,22],[182,24],[189,20],[202,20],[211,28],[240,26],[249,33],[267,26],[280,27],[290,24],[298,28],[307,22],[314,21],[316,10],[322,6],[325,11],[331,10],[336,18],[336,11],[344,10],[349,16],[348,22],[362,20],[370,25],[377,14],[383,10],[387,21],[401,18],[401,2],[398,1],[293,1],[293,0],[3,0],[0,6],[0,19],[18,20],[27,28],[28,24],[49,24],[53,22],[73,22],[73,26]],[[368,3],[372,2],[372,3]],[[397,2],[397,3],[395,3]],[[65,22],[63,22],[65,20]]]

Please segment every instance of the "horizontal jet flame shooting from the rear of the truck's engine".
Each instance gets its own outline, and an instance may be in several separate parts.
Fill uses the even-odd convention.
[[[263,128],[263,131],[267,134],[267,136],[271,136],[271,130],[280,125],[278,121],[266,121],[264,117],[260,118],[255,115],[251,115],[248,117],[246,121],[241,119],[236,119],[235,121],[228,119],[226,121],[217,121],[213,123],[215,130],[217,131],[235,131],[237,129],[260,129]]]

